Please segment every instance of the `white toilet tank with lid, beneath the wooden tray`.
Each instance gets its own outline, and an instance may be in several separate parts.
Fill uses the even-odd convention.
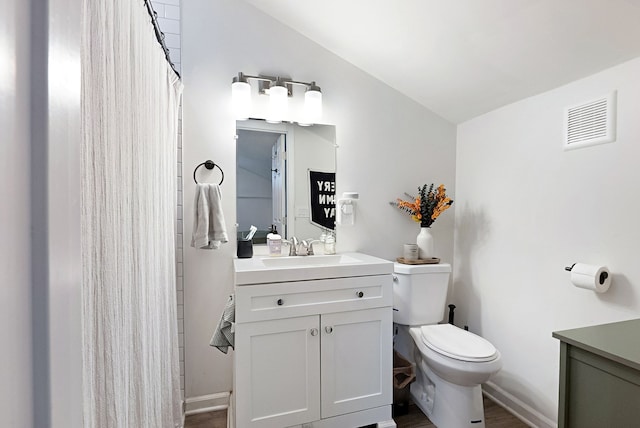
[[[393,322],[424,325],[442,321],[451,265],[394,263],[393,271]]]

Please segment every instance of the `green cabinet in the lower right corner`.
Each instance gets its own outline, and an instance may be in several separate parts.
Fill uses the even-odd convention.
[[[557,331],[558,428],[640,426],[640,320]]]

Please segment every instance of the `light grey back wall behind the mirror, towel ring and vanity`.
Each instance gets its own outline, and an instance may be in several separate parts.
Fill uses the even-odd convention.
[[[223,210],[235,235],[235,120],[231,78],[282,74],[315,80],[323,89],[324,121],[336,125],[337,193],[360,192],[357,224],[338,229],[338,251],[395,259],[415,242],[418,225],[388,202],[422,183],[444,183],[455,199],[455,126],[329,53],[262,12],[231,0],[182,5],[184,168],[206,159],[225,170]],[[185,201],[194,185],[185,180]],[[193,215],[185,204],[185,218]],[[453,258],[455,208],[435,224],[440,255]],[[191,225],[185,223],[185,242]],[[233,287],[235,242],[217,251],[185,247],[185,364],[187,400],[230,391],[231,355],[208,343]]]

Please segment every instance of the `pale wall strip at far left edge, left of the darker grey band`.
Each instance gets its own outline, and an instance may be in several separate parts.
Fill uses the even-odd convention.
[[[0,3],[0,414],[31,427],[29,275],[29,3]]]

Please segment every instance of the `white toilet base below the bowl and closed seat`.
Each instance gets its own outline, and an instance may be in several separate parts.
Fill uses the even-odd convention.
[[[447,382],[425,364],[420,352],[416,359],[416,381],[411,398],[438,428],[485,428],[482,388]]]

